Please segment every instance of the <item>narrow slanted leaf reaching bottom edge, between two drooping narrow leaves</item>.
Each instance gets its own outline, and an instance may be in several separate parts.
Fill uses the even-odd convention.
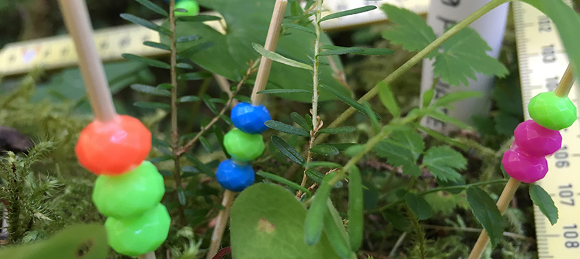
[[[332,205],[330,199],[326,201],[326,212],[324,214],[323,224],[324,232],[336,254],[339,254],[343,259],[353,258],[351,257],[352,252],[350,251],[350,244],[347,239],[348,234],[345,231],[343,220],[334,205]]]

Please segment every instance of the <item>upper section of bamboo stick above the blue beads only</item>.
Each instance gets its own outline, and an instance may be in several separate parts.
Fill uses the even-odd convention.
[[[267,49],[270,52],[276,51],[278,39],[280,37],[282,19],[284,19],[284,12],[286,12],[286,5],[288,5],[287,0],[277,0],[274,5],[274,13],[272,14],[272,20],[270,21],[270,28],[268,28],[266,44],[264,44],[264,49]],[[260,67],[258,68],[256,82],[254,84],[254,89],[252,90],[251,98],[253,105],[258,105],[261,103],[262,95],[258,94],[258,92],[266,89],[266,82],[268,82],[268,76],[270,76],[271,68],[272,60],[262,56],[260,60]]]

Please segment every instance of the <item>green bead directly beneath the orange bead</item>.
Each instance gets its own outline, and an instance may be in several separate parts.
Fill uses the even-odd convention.
[[[143,161],[125,174],[99,176],[93,201],[105,216],[134,218],[158,205],[164,193],[163,177],[151,162]]]

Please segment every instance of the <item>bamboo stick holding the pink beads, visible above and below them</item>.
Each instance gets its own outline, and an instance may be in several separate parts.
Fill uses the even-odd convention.
[[[554,94],[558,97],[565,98],[568,97],[568,93],[570,93],[570,89],[572,89],[572,85],[574,85],[574,75],[572,74],[572,67],[568,64],[566,71],[564,72],[562,79],[558,83],[558,87],[554,90]],[[500,210],[502,215],[506,211],[509,202],[513,199],[513,194],[515,194],[515,190],[519,186],[520,181],[516,179],[510,178],[506,187],[504,188],[500,199],[497,201],[497,209]],[[487,243],[489,242],[489,236],[482,230],[480,237],[477,238],[473,249],[471,250],[471,254],[469,254],[468,259],[480,259]]]

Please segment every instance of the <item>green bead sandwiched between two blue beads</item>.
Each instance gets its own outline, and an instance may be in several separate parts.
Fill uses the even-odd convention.
[[[250,161],[264,152],[264,140],[259,134],[249,134],[234,128],[224,136],[226,150],[237,161]]]

